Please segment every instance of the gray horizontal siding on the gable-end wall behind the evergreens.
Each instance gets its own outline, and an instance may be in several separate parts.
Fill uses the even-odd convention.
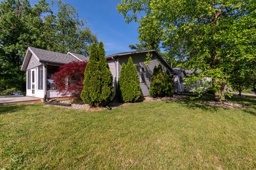
[[[153,58],[150,61],[149,65],[145,65],[144,62],[146,61],[146,54],[132,54],[132,55],[125,55],[118,57],[119,60],[119,72],[121,71],[122,63],[127,64],[129,57],[132,57],[132,61],[136,66],[143,67],[145,69],[145,81],[140,82],[140,88],[143,96],[149,96],[149,87],[150,87],[150,78],[153,74],[153,70],[155,65],[158,66],[159,63],[161,63],[163,71],[166,71],[165,65],[162,63],[162,61],[159,60],[159,58],[156,56],[155,53],[153,53]]]

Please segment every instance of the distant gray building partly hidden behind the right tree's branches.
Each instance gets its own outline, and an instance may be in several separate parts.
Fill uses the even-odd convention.
[[[194,73],[195,70],[182,70],[182,68],[173,68],[173,83],[174,83],[174,92],[190,92],[199,86],[202,81],[212,81],[211,78],[203,78],[201,81],[197,81],[193,86],[189,84],[183,84],[183,78],[188,77],[189,74]],[[202,70],[196,70],[196,74],[201,73]]]

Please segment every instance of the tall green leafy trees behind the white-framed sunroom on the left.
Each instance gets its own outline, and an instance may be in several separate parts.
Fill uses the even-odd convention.
[[[57,7],[54,13],[45,0],[34,6],[28,0],[0,2],[0,90],[25,89],[20,66],[28,46],[88,55],[91,44],[97,43],[73,6],[58,1]]]

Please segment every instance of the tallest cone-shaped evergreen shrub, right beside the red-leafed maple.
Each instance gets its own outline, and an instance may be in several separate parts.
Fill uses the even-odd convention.
[[[81,98],[91,106],[105,106],[113,99],[113,77],[105,57],[103,43],[93,44],[90,58],[84,71],[84,88]]]

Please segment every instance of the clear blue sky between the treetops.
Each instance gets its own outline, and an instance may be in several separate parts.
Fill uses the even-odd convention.
[[[50,3],[49,0],[46,0]],[[33,5],[37,0],[31,0]],[[116,5],[121,2],[116,0],[63,0],[73,5],[78,10],[79,18],[87,20],[99,41],[105,44],[106,55],[129,52],[130,44],[139,43],[138,24],[125,23],[123,15],[117,13]],[[55,1],[57,3],[57,1]],[[56,10],[54,6],[53,10]]]

